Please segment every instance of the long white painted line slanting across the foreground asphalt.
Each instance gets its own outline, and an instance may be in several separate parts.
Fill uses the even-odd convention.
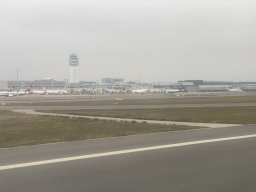
[[[51,163],[60,163],[60,162],[66,162],[66,161],[74,161],[74,160],[95,158],[95,157],[120,155],[120,154],[135,153],[135,152],[142,152],[142,151],[150,151],[150,150],[156,150],[156,149],[166,149],[166,148],[181,147],[181,146],[188,146],[188,145],[196,145],[196,144],[203,144],[203,143],[213,143],[213,142],[219,142],[219,141],[246,139],[246,138],[253,138],[253,137],[256,137],[256,134],[254,134],[254,135],[236,136],[236,137],[225,137],[225,138],[219,138],[219,139],[208,139],[208,140],[201,140],[201,141],[192,141],[192,142],[185,142],[185,143],[175,143],[175,144],[160,145],[160,146],[153,146],[153,147],[143,147],[143,148],[137,148],[137,149],[112,151],[112,152],[97,153],[97,154],[91,154],[91,155],[81,155],[81,156],[75,156],[75,157],[66,157],[66,158],[51,159],[51,160],[44,160],[44,161],[36,161],[36,162],[30,162],[30,163],[20,163],[20,164],[13,164],[13,165],[5,165],[5,166],[0,166],[0,171],[1,170],[6,170],[6,169],[31,167],[31,166],[36,166],[36,165],[46,165],[46,164],[51,164]]]

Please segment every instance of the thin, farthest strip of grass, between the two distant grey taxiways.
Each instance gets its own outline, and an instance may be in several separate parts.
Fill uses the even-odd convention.
[[[69,102],[27,102],[6,103],[6,106],[97,106],[97,105],[166,105],[166,104],[214,104],[214,103],[256,103],[256,96],[238,97],[179,97],[164,99],[131,99]]]

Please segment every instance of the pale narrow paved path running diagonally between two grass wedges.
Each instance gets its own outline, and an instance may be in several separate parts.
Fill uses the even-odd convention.
[[[234,127],[241,126],[241,124],[219,124],[219,123],[194,123],[194,122],[177,122],[177,121],[157,121],[157,120],[142,120],[142,119],[124,119],[124,118],[114,118],[114,117],[97,117],[97,116],[81,116],[81,115],[68,115],[68,114],[56,114],[56,113],[41,113],[34,110],[12,110],[17,113],[25,113],[29,115],[51,115],[51,116],[61,116],[70,118],[86,118],[86,119],[100,119],[100,120],[112,120],[118,122],[137,122],[137,123],[151,123],[151,124],[164,124],[164,125],[186,125],[195,127],[209,127],[209,128],[221,128],[221,127]]]

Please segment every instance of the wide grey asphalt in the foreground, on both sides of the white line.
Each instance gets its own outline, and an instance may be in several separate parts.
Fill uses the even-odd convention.
[[[2,166],[255,135],[256,126],[200,129],[0,149]],[[254,191],[256,139],[139,151],[0,170],[0,191]]]

